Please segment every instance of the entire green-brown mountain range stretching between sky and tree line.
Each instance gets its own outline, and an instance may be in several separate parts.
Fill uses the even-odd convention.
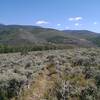
[[[87,30],[56,30],[31,25],[0,24],[0,44],[64,44],[76,46],[96,46],[94,39],[99,34]]]

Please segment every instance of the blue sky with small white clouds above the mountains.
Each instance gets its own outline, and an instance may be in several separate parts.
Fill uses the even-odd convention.
[[[0,23],[100,32],[100,0],[0,0]]]

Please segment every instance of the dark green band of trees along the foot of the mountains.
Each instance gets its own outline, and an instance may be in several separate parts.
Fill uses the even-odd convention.
[[[41,45],[23,45],[23,46],[14,46],[14,45],[3,45],[0,44],[0,53],[14,53],[21,52],[21,54],[27,54],[29,51],[43,51],[43,50],[56,50],[56,49],[66,49],[73,48],[72,46],[65,46],[59,44],[41,44]]]

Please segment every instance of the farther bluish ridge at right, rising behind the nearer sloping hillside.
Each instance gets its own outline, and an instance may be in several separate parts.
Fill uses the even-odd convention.
[[[88,30],[64,30],[63,32],[65,32],[67,36],[85,39],[92,42],[96,46],[100,46],[100,33]]]

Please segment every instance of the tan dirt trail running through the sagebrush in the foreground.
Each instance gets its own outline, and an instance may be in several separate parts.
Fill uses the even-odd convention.
[[[54,85],[53,76],[48,69],[44,69],[23,100],[46,100],[44,94]]]

